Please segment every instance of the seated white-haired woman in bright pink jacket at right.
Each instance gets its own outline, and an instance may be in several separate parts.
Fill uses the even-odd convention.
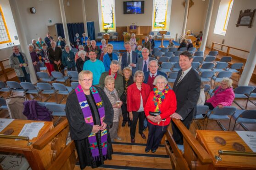
[[[224,106],[231,106],[235,96],[232,83],[231,79],[224,77],[214,95],[205,102],[205,105],[209,106],[210,110],[217,106],[221,109]]]

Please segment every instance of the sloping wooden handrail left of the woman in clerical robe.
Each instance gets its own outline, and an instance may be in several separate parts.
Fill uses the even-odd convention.
[[[48,144],[52,138],[54,138],[58,133],[60,133],[67,126],[68,126],[68,122],[67,122],[67,119],[65,119],[55,128],[53,128],[50,132],[45,133],[44,136],[42,136],[41,138],[39,138],[39,140],[33,143],[33,148],[39,149],[39,150],[43,149],[44,146]]]

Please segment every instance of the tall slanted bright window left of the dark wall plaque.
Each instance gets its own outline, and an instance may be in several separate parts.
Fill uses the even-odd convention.
[[[234,0],[221,0],[215,23],[214,33],[219,35],[226,35],[229,17],[232,11]]]

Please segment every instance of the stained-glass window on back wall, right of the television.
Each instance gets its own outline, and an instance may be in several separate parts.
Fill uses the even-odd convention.
[[[166,21],[167,8],[168,8],[168,0],[155,0],[153,30],[167,28],[167,21]]]

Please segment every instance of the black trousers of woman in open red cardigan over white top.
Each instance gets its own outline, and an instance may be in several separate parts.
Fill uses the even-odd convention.
[[[143,121],[145,118],[145,113],[143,112],[133,112],[133,120],[130,127],[130,134],[131,138],[134,139],[135,137],[135,131],[136,131],[136,125],[139,119],[139,134],[142,134],[143,132]]]

